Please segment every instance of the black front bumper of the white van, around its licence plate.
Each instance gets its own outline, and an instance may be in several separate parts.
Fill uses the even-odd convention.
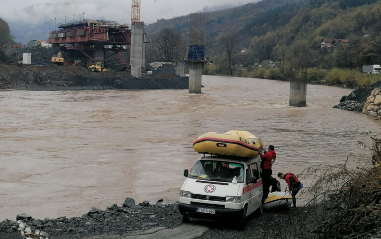
[[[197,208],[207,208],[216,210],[216,214],[209,213],[199,213]],[[219,208],[219,207],[209,207],[209,206],[199,206],[192,204],[179,203],[179,211],[181,215],[194,219],[201,219],[207,221],[220,221],[220,220],[236,220],[242,218],[244,209],[230,209],[230,208]]]

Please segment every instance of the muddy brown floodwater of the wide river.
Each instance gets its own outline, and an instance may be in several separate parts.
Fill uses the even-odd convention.
[[[296,108],[289,82],[203,76],[202,83],[199,95],[0,91],[0,221],[80,216],[126,197],[176,202],[184,168],[200,157],[192,141],[208,131],[247,130],[275,145],[276,174],[368,153],[360,133],[381,126],[332,108],[351,89],[308,85],[308,106]]]

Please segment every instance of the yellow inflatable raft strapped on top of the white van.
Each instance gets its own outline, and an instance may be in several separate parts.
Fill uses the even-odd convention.
[[[208,132],[193,141],[193,149],[198,153],[229,155],[253,158],[263,148],[260,138],[248,131],[231,130],[224,134]]]

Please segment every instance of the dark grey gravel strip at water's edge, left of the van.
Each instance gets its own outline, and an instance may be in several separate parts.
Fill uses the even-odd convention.
[[[154,227],[174,228],[181,225],[181,215],[177,204],[164,205],[157,202],[150,205],[145,201],[134,205],[133,199],[127,198],[122,207],[114,204],[104,211],[92,208],[81,217],[44,220],[24,217],[20,222],[30,227],[32,233],[36,230],[48,233],[50,239],[80,239],[95,235],[126,235]],[[2,221],[0,239],[21,239],[19,223],[8,219]],[[39,239],[32,234],[25,236]]]

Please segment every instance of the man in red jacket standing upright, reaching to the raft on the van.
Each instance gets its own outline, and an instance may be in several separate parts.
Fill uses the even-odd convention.
[[[260,167],[262,168],[262,184],[263,184],[263,196],[262,196],[262,203],[264,200],[266,200],[268,193],[269,193],[269,187],[270,187],[270,176],[272,174],[271,165],[274,163],[276,159],[276,153],[275,148],[273,145],[268,146],[268,151],[264,150],[263,155],[259,155],[260,159],[262,160],[260,162]]]

